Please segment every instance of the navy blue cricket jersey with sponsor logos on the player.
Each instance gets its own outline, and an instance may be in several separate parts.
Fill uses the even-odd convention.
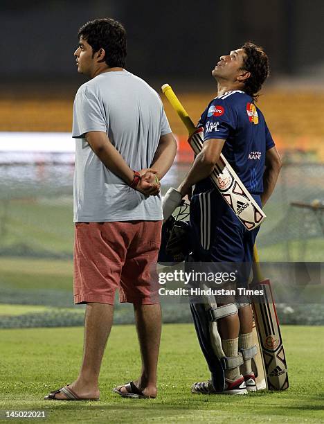
[[[263,192],[265,154],[275,143],[260,109],[244,91],[228,91],[214,98],[198,123],[204,141],[226,140],[222,154],[251,194]],[[197,183],[195,194],[214,188],[209,177]]]

